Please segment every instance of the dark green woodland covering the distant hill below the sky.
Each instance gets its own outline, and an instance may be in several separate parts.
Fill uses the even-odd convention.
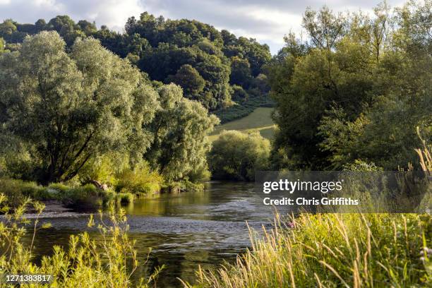
[[[121,58],[128,58],[151,80],[176,83],[184,95],[211,110],[247,102],[249,97],[266,95],[269,88],[263,66],[270,61],[268,45],[236,37],[227,30],[196,20],[165,20],[145,12],[139,19],[127,20],[124,32],[69,16],[56,16],[45,22],[20,24],[5,20],[0,24],[0,49],[16,50],[26,36],[54,30],[68,49],[78,37],[94,37],[103,47]]]

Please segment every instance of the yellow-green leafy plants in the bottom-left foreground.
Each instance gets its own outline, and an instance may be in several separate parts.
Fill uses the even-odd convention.
[[[51,256],[44,256],[40,264],[32,258],[33,240],[37,231],[49,228],[49,224],[38,225],[44,210],[42,203],[26,200],[13,214],[5,205],[6,196],[0,194],[1,211],[6,212],[5,220],[0,223],[0,243],[4,253],[0,256],[1,271],[8,274],[44,274],[52,275],[48,287],[131,287],[131,277],[138,268],[138,259],[134,241],[128,236],[128,225],[124,210],[115,211],[112,207],[107,216],[100,214],[95,223],[90,217],[89,227],[97,225],[100,241],[90,238],[88,232],[71,235],[67,249],[54,246]],[[28,205],[36,210],[35,222],[24,217]],[[32,241],[25,245],[23,236],[30,226]],[[163,267],[162,267],[163,268]],[[140,279],[133,286],[150,287],[157,272],[148,280]]]

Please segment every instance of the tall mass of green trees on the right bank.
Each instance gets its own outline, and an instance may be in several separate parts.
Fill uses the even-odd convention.
[[[431,1],[393,12],[380,4],[373,16],[306,11],[311,41],[287,36],[266,67],[280,128],[272,154],[289,158],[282,166],[342,169],[360,159],[394,170],[414,162],[416,127],[431,126],[430,13]]]

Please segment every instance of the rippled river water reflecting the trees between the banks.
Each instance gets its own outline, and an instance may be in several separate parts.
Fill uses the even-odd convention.
[[[136,200],[126,211],[140,260],[134,277],[165,265],[157,287],[181,287],[177,278],[193,283],[198,265],[206,269],[233,263],[250,246],[247,224],[260,231],[272,219],[271,208],[262,205],[253,184],[241,182],[212,182],[202,192]],[[44,215],[42,222],[52,228],[37,233],[35,254],[49,255],[53,245],[66,248],[70,234],[88,229],[88,217],[74,212]]]

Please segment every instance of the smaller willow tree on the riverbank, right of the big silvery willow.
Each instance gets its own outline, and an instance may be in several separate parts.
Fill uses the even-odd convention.
[[[150,126],[154,138],[145,159],[168,181],[205,176],[208,133],[219,123],[217,117],[184,98],[177,85],[162,86],[159,95],[160,109]]]

